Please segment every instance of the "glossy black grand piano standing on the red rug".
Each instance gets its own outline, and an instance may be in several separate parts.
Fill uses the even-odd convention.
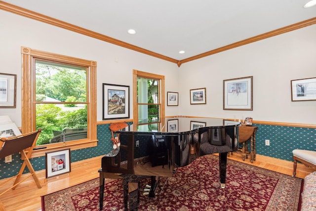
[[[188,165],[199,156],[219,153],[220,183],[225,188],[227,153],[237,150],[238,122],[217,118],[162,118],[144,120],[116,131],[120,146],[102,158],[100,210],[105,178],[122,178],[127,210],[128,182],[151,176],[149,197],[155,197],[160,176]],[[139,194],[139,189],[138,189]]]

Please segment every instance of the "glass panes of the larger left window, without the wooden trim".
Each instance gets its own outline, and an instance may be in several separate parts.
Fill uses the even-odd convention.
[[[34,59],[36,145],[87,138],[87,68]]]

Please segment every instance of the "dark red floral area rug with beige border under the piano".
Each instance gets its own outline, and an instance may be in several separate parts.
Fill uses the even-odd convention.
[[[121,179],[106,179],[103,211],[124,211]],[[143,196],[139,211],[297,211],[303,180],[228,159],[226,187],[218,156],[206,155],[162,177],[157,196]],[[42,196],[42,211],[98,211],[99,179]]]

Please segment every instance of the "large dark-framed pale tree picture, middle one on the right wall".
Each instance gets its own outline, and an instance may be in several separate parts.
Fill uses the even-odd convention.
[[[252,76],[223,81],[223,109],[252,111]]]

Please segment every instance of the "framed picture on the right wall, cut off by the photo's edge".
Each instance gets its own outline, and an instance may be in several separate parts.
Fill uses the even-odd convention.
[[[316,100],[316,78],[291,81],[292,101]]]

